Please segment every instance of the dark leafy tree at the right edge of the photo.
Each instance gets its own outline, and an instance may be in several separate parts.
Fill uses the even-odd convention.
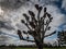
[[[58,32],[57,38],[58,38],[58,46],[66,45],[66,32],[65,30]]]

